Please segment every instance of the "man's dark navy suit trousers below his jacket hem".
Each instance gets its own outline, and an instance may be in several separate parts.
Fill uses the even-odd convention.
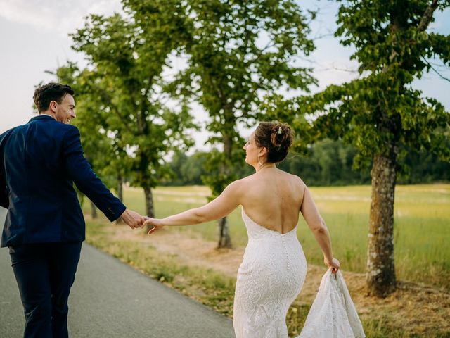
[[[68,298],[82,242],[10,246],[25,311],[25,338],[68,337]]]

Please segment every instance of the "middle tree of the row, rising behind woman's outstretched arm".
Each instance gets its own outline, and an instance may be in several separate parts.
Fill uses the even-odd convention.
[[[187,66],[170,88],[193,97],[210,115],[208,142],[220,150],[209,154],[204,182],[217,196],[238,178],[232,168],[244,153],[237,126],[255,123],[263,94],[282,86],[306,90],[314,82],[309,69],[292,62],[314,49],[307,17],[290,0],[125,2],[140,21],[151,21],[155,13],[165,20],[171,13],[184,27]],[[231,246],[226,218],[219,220],[218,246]]]

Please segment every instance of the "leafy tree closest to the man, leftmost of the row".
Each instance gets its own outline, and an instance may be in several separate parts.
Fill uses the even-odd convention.
[[[89,90],[90,99],[95,96],[98,108],[90,111],[85,104],[78,114],[98,114],[94,120],[101,123],[94,132],[106,134],[119,161],[129,163],[130,183],[143,187],[146,213],[153,217],[151,189],[165,175],[163,157],[171,149],[191,146],[184,130],[195,126],[186,104],[179,102],[177,108],[163,104],[169,96],[162,91],[162,71],[176,39],[163,38],[168,34],[164,27],[153,27],[154,34],[146,30],[144,35],[143,27],[129,15],[91,15],[71,35],[72,48],[86,54],[89,62],[75,74],[76,81],[85,87],[85,94]],[[123,179],[122,172],[116,174]]]

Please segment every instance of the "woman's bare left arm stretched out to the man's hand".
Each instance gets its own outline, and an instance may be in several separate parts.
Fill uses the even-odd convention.
[[[149,224],[157,228],[166,225],[193,225],[224,218],[241,204],[241,191],[240,180],[235,181],[229,184],[220,196],[205,206],[186,210],[160,220],[149,218],[144,225]]]

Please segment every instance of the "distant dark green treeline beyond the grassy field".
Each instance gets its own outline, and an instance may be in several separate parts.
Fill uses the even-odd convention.
[[[405,149],[398,184],[418,184],[430,182],[450,182],[450,163],[428,154]],[[353,159],[356,149],[341,141],[324,140],[309,147],[307,154],[291,152],[278,168],[302,177],[309,186],[333,186],[351,184],[370,184],[370,169],[356,170]],[[233,172],[239,177],[254,173],[243,160],[236,163]],[[167,163],[172,177],[162,180],[162,185],[203,184],[202,176],[211,175],[204,168],[206,153],[197,151],[191,156],[174,154]],[[369,165],[371,168],[371,165]]]

